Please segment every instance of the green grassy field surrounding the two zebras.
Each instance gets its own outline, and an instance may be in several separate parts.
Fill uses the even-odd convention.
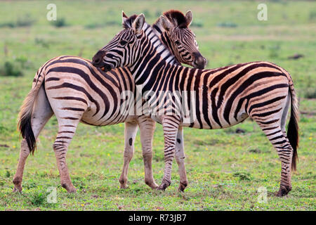
[[[57,23],[46,20],[50,3],[57,6]],[[316,210],[316,3],[266,4],[268,20],[259,21],[258,1],[0,1],[0,210]],[[60,186],[52,148],[55,117],[41,132],[34,156],[27,159],[23,192],[12,193],[20,152],[18,110],[37,69],[60,55],[91,59],[121,30],[121,10],[127,15],[143,12],[147,22],[153,23],[171,8],[192,10],[192,30],[209,60],[208,68],[268,60],[291,73],[300,101],[301,142],[289,195],[274,196],[281,163],[250,120],[229,129],[184,130],[189,180],[185,193],[177,192],[175,160],[172,184],[165,192],[145,185],[139,135],[129,188],[119,189],[124,124],[79,124],[67,153],[77,193],[68,194]],[[291,59],[295,54],[303,57]],[[245,132],[236,134],[237,128]],[[163,147],[158,124],[153,146],[157,184],[163,175]],[[57,188],[57,203],[47,203],[48,187]],[[258,202],[259,187],[267,188],[267,203]]]

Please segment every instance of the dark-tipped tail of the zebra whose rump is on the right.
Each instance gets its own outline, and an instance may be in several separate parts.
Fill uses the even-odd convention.
[[[293,82],[290,86],[291,93],[291,117],[289,120],[289,126],[287,127],[287,138],[289,143],[293,148],[293,157],[292,157],[292,169],[296,170],[296,161],[298,161],[297,148],[298,148],[298,100],[296,97],[296,92],[294,90]]]

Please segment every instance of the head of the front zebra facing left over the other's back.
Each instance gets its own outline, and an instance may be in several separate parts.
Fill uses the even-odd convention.
[[[92,58],[92,64],[97,68],[104,68],[107,72],[112,68],[131,67],[142,55],[143,45],[141,43],[145,16],[132,15],[127,17],[123,12],[123,30],[100,49]]]

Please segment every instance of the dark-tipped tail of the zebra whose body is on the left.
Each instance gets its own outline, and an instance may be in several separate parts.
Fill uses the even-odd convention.
[[[39,89],[44,81],[44,75],[36,77],[37,82],[24,99],[18,115],[18,130],[23,139],[27,141],[27,146],[32,155],[34,155],[34,150],[37,148],[37,142],[32,130],[32,111],[37,95],[39,94]]]

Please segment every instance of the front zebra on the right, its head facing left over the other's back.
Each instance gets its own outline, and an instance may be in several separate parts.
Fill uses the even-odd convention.
[[[136,86],[141,87],[142,98],[152,109],[152,118],[162,124],[165,168],[159,189],[164,190],[171,184],[179,127],[221,129],[251,117],[277,150],[282,162],[277,196],[287,195],[291,191],[291,169],[296,169],[298,146],[298,101],[289,73],[263,61],[212,70],[174,65],[164,60],[154,38],[143,32],[150,29],[143,14],[124,27],[96,53],[93,65],[108,68],[129,66]],[[126,41],[125,46],[119,44],[122,38]],[[113,53],[118,57],[110,58]],[[129,58],[129,61],[126,62],[125,58]],[[96,60],[98,63],[95,63]],[[186,97],[183,94],[185,91],[192,92],[194,97]],[[176,94],[172,96],[173,93]],[[184,120],[178,107],[179,99],[180,106],[190,110],[195,120]],[[193,101],[195,107],[190,108]],[[290,106],[291,117],[286,134],[285,124]]]

